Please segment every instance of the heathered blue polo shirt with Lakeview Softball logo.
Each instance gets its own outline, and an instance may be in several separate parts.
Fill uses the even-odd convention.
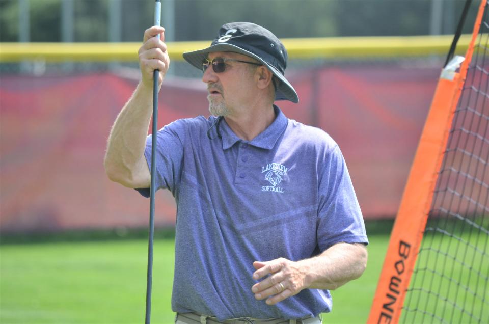
[[[213,116],[177,120],[157,132],[156,186],[170,190],[177,204],[175,312],[220,320],[329,312],[328,290],[304,289],[274,306],[257,301],[253,262],[298,261],[337,242],[368,242],[338,145],[274,109],[275,121],[250,142],[224,119],[218,133]],[[150,164],[151,136],[145,156]]]

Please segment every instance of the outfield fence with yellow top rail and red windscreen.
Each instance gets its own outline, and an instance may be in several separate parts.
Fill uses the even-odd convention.
[[[300,102],[277,104],[338,142],[366,219],[392,218],[451,36],[283,42]],[[207,45],[168,44],[160,127],[208,115],[201,71],[181,58]],[[111,125],[139,80],[139,46],[0,43],[2,232],[147,226],[149,201],[102,166]],[[156,225],[172,226],[173,197],[156,197]]]

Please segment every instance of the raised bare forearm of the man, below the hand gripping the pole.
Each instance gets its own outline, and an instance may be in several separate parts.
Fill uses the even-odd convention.
[[[140,83],[117,116],[108,138],[105,172],[111,180],[128,187],[149,186],[144,149],[152,98],[152,89]]]

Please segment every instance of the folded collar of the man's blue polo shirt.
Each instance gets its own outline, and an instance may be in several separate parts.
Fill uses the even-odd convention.
[[[280,108],[274,105],[275,111],[275,120],[271,123],[264,131],[258,134],[253,140],[249,142],[250,145],[270,150],[275,146],[277,140],[282,135],[287,127],[288,119],[282,113]],[[223,140],[223,149],[227,150],[231,146],[233,146],[236,142],[242,141],[236,134],[232,131],[229,125],[226,123],[224,119],[221,122],[222,127],[222,140]]]

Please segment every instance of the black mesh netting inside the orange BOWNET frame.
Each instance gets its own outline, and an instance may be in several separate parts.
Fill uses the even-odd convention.
[[[401,322],[489,321],[489,17],[453,116]]]

